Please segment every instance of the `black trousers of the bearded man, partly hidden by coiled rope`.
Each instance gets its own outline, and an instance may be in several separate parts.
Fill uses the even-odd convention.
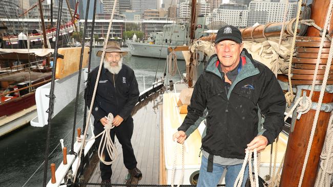
[[[123,121],[118,127],[111,129],[110,136],[114,142],[114,136],[116,135],[119,143],[122,147],[123,162],[127,169],[131,170],[136,168],[137,161],[134,155],[131,138],[133,134],[133,118],[130,116],[126,121]],[[94,134],[98,135],[104,130],[104,126],[99,122],[94,123]],[[95,145],[98,150],[99,143],[101,141],[101,136],[95,139]],[[103,143],[102,143],[103,144]],[[111,161],[108,151],[105,149],[103,155],[106,161]],[[104,157],[103,156],[103,157]],[[100,177],[102,180],[110,180],[112,175],[111,165],[105,165],[103,162],[99,162]]]

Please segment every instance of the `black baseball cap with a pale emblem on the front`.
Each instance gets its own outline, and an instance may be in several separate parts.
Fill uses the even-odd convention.
[[[237,43],[242,42],[242,33],[239,29],[234,26],[228,25],[224,26],[217,31],[215,43],[218,43],[222,40],[233,40]]]

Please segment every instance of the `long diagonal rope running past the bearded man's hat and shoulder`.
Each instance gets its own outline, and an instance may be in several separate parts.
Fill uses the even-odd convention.
[[[91,112],[92,112],[92,109],[93,109],[93,105],[94,105],[94,102],[95,102],[95,96],[96,96],[96,91],[97,91],[99,76],[100,76],[100,72],[101,72],[101,69],[102,69],[102,64],[103,64],[103,60],[104,60],[104,56],[105,56],[105,50],[106,50],[107,44],[108,44],[107,41],[109,40],[109,36],[110,36],[110,31],[111,31],[111,26],[112,26],[112,20],[113,20],[114,12],[115,12],[115,9],[116,9],[116,4],[117,4],[117,0],[114,0],[112,14],[111,14],[109,28],[108,28],[108,33],[107,33],[107,37],[106,37],[105,42],[104,42],[104,47],[103,47],[102,56],[100,58],[100,63],[99,63],[97,78],[96,78],[96,82],[95,82],[94,92],[93,92],[93,96],[92,96],[90,107],[89,107],[89,113],[88,113],[88,116],[87,116],[87,123],[86,123],[86,128],[85,128],[85,133],[84,133],[84,139],[83,139],[83,143],[82,143],[83,145],[82,145],[82,147],[80,149],[80,153],[79,153],[78,158],[81,157],[82,150],[86,146],[86,135],[87,135],[87,131],[88,131],[88,125],[89,125],[89,121],[90,121],[90,116],[91,116]],[[83,47],[84,46],[82,46],[82,48]],[[80,162],[78,161],[77,162],[77,167],[75,169],[76,171],[74,172],[74,181],[73,182],[75,182],[75,180],[76,180],[76,174],[77,174],[77,170],[79,168],[79,165],[80,165]]]

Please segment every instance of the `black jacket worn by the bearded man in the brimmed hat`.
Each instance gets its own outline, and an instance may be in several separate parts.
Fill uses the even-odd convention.
[[[93,69],[89,75],[89,85],[86,88],[88,107],[92,101],[98,68],[97,66]],[[109,112],[113,116],[120,115],[126,121],[138,102],[138,98],[139,88],[133,69],[122,64],[118,74],[111,74],[108,69],[102,67],[92,114],[96,121],[108,116]]]

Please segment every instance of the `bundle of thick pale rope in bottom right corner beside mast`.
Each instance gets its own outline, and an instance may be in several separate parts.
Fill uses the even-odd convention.
[[[333,174],[333,111],[330,114],[315,187],[329,187]]]

